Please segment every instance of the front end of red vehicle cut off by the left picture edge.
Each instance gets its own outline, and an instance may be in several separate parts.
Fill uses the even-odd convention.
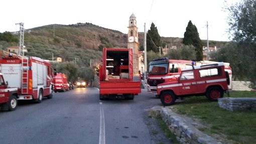
[[[16,109],[18,102],[18,88],[9,88],[8,82],[4,80],[3,74],[0,73],[0,107],[1,110],[13,111]]]

